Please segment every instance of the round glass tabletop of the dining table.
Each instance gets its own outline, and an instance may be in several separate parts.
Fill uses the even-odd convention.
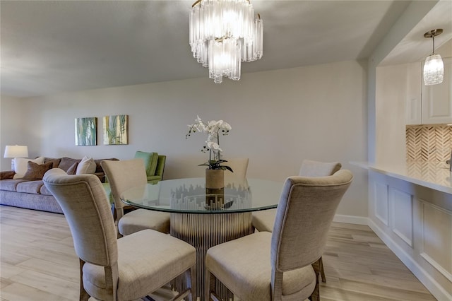
[[[137,208],[171,213],[239,213],[276,208],[282,182],[246,179],[206,189],[203,177],[169,179],[124,191],[124,203]]]

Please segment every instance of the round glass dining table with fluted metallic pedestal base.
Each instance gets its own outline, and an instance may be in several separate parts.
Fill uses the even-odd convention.
[[[282,182],[266,179],[232,181],[224,189],[206,189],[205,184],[203,177],[169,179],[133,187],[121,196],[133,207],[171,213],[170,234],[196,248],[196,295],[201,301],[207,250],[251,234],[252,212],[276,208],[283,188]],[[217,291],[225,300],[232,297],[220,284]]]

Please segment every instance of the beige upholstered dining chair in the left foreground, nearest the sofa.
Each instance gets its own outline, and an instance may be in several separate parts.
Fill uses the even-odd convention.
[[[80,300],[136,300],[178,276],[186,276],[186,289],[174,300],[192,300],[194,247],[155,230],[117,239],[107,194],[95,175],[67,175],[54,168],[43,180],[71,229],[80,259]]]

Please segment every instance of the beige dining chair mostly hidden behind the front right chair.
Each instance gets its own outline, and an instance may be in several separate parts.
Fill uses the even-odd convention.
[[[333,175],[340,170],[342,164],[339,162],[319,162],[314,160],[303,160],[302,167],[299,170],[299,176],[302,177],[325,177]],[[262,232],[272,232],[275,224],[276,209],[257,211],[253,213],[252,225]],[[326,282],[325,270],[323,268],[322,257],[319,259],[320,275],[323,282]]]

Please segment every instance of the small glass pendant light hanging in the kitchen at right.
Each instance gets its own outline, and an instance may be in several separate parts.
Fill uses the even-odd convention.
[[[425,59],[424,63],[424,84],[425,85],[438,85],[443,82],[444,79],[444,64],[441,59],[441,55],[435,54],[435,37],[441,35],[443,30],[441,28],[430,30],[428,33],[424,33],[424,37],[432,37],[433,52],[432,55]]]

